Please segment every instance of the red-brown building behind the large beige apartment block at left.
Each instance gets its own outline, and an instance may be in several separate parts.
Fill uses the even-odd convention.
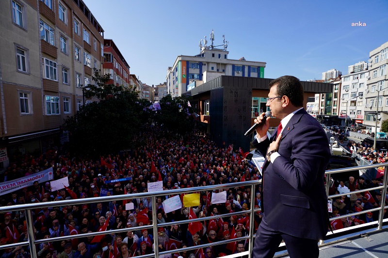
[[[110,74],[108,84],[129,88],[129,64],[111,39],[104,39],[104,75]]]

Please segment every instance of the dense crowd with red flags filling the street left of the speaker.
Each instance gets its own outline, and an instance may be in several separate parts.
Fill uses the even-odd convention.
[[[194,130],[185,136],[171,135],[162,128],[138,136],[143,146],[130,151],[101,156],[73,157],[70,153],[52,149],[41,156],[18,155],[1,175],[2,182],[31,175],[53,167],[53,180],[68,178],[67,188],[51,191],[50,182],[33,182],[33,185],[2,195],[2,206],[36,202],[60,201],[72,198],[89,198],[103,195],[121,195],[147,192],[147,182],[162,180],[163,190],[216,185],[260,178],[258,168],[244,160],[247,153],[234,153],[232,146],[217,146],[210,137]],[[118,182],[110,182],[120,179]],[[250,187],[229,187],[214,192],[227,191],[225,203],[211,203],[211,191],[198,192],[199,206],[182,207],[164,212],[163,201],[172,197],[157,198],[156,211],[151,198],[134,198],[124,201],[97,202],[84,205],[52,207],[32,211],[35,239],[47,239],[37,246],[39,258],[127,258],[177,248],[209,244],[207,248],[176,252],[164,257],[222,257],[243,252],[247,241],[215,245],[221,240],[249,234],[249,214],[211,216],[248,210],[251,203],[261,205],[261,187],[257,185],[255,199],[251,200]],[[126,203],[133,210],[126,210]],[[209,217],[199,228],[189,224],[158,227],[158,246],[154,246],[152,229],[131,229],[151,225],[152,213],[157,212],[157,224],[183,221],[190,217]],[[255,230],[261,221],[261,212],[255,212]],[[126,229],[122,233],[109,233],[111,229]],[[51,242],[50,238],[107,230],[105,235],[73,238]],[[28,230],[24,211],[0,214],[0,245],[27,241]],[[174,247],[172,247],[174,246]],[[1,258],[29,257],[28,246],[0,250]],[[163,257],[163,256],[160,256]]]

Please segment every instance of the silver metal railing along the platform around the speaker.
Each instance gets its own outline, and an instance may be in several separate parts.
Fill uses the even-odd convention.
[[[382,204],[377,207],[373,208],[371,210],[366,210],[366,211],[361,211],[361,212],[354,212],[346,215],[342,215],[339,217],[331,218],[330,220],[335,220],[335,219],[341,219],[349,216],[354,216],[354,215],[359,215],[363,214],[366,212],[374,212],[374,211],[379,211],[379,219],[377,222],[371,222],[371,223],[365,223],[363,225],[357,226],[359,228],[364,229],[364,227],[376,227],[377,228],[374,231],[379,231],[382,230],[383,227],[383,216],[384,216],[384,209],[388,208],[388,206],[385,205],[385,196],[387,194],[387,174],[388,174],[388,163],[382,163],[382,164],[376,164],[376,165],[368,165],[368,166],[360,166],[360,167],[349,167],[349,168],[340,168],[340,169],[333,169],[333,170],[327,170],[325,172],[326,175],[326,192],[329,190],[329,180],[330,180],[330,175],[331,174],[337,174],[337,173],[342,173],[342,172],[348,172],[348,171],[355,171],[357,169],[370,169],[370,168],[377,168],[377,167],[385,167],[385,173],[384,173],[384,184],[378,187],[373,187],[369,189],[364,189],[360,191],[354,191],[352,193],[362,193],[365,191],[370,191],[370,190],[381,190],[382,194]],[[230,242],[236,242],[236,241],[241,241],[241,240],[246,240],[249,239],[249,244],[248,244],[248,251],[245,251],[243,253],[240,253],[239,256],[243,255],[248,255],[250,258],[252,256],[252,249],[253,249],[253,243],[254,243],[254,238],[256,237],[256,232],[254,232],[254,213],[261,211],[261,209],[254,209],[254,199],[255,199],[255,187],[257,184],[261,183],[261,180],[255,180],[255,181],[246,181],[246,182],[236,182],[236,183],[228,183],[228,184],[220,184],[220,185],[208,185],[208,186],[201,186],[201,187],[192,187],[192,188],[183,188],[183,189],[175,189],[175,190],[168,190],[168,191],[159,191],[159,192],[146,192],[146,193],[137,193],[137,194],[128,194],[128,195],[117,195],[117,196],[106,196],[106,197],[92,197],[92,198],[82,198],[82,199],[71,199],[71,200],[62,200],[62,201],[52,201],[52,202],[43,202],[43,203],[30,203],[30,204],[22,204],[22,205],[13,205],[13,206],[6,206],[6,207],[0,207],[0,213],[3,212],[14,212],[14,211],[21,211],[24,210],[26,214],[26,222],[27,222],[27,230],[28,230],[28,241],[21,242],[21,243],[13,243],[13,244],[6,244],[6,245],[1,245],[0,249],[4,248],[11,248],[11,247],[17,247],[17,246],[24,246],[24,245],[29,245],[29,249],[31,252],[31,257],[35,258],[37,257],[37,251],[35,248],[36,244],[40,243],[47,243],[48,241],[54,242],[54,241],[62,241],[62,240],[70,240],[73,238],[83,238],[83,237],[88,237],[88,236],[97,236],[97,235],[105,235],[105,234],[114,234],[114,233],[121,233],[121,232],[126,232],[129,229],[130,230],[141,230],[141,229],[151,229],[153,230],[153,235],[154,237],[154,246],[158,246],[158,228],[160,227],[166,227],[166,226],[172,226],[172,225],[180,225],[180,224],[187,224],[189,222],[195,222],[195,221],[205,221],[209,220],[210,217],[204,217],[204,218],[196,218],[196,219],[188,219],[184,221],[175,221],[175,222],[169,222],[169,223],[162,223],[162,224],[157,224],[157,212],[156,211],[156,198],[158,196],[165,196],[165,195],[177,195],[177,194],[182,194],[182,193],[192,193],[192,192],[198,192],[198,191],[212,191],[212,190],[217,190],[217,189],[226,189],[226,188],[234,188],[234,187],[241,187],[241,186],[250,186],[250,194],[251,194],[251,206],[248,207],[249,209],[246,211],[241,211],[241,212],[233,212],[233,213],[227,213],[227,214],[220,214],[216,216],[211,216],[211,219],[214,218],[221,218],[221,217],[229,217],[232,215],[239,215],[239,214],[248,214],[249,215],[249,235],[243,236],[241,238],[234,238],[234,239],[229,239],[229,240],[224,240],[224,241],[219,241],[216,243],[211,243],[211,245],[219,245],[219,244],[224,244],[224,243],[230,243]],[[340,197],[343,196],[344,194],[337,194],[337,195],[331,195],[329,198],[333,197]],[[134,198],[142,198],[142,197],[151,197],[152,200],[152,225],[146,225],[146,226],[141,226],[141,227],[135,227],[135,228],[123,228],[123,229],[114,229],[114,230],[109,230],[109,231],[101,231],[101,232],[92,232],[92,233],[85,233],[85,234],[78,234],[78,235],[71,235],[71,236],[63,236],[63,237],[54,237],[54,238],[49,238],[49,239],[42,239],[42,240],[36,240],[35,235],[34,235],[34,226],[33,226],[33,220],[32,220],[32,210],[34,209],[41,209],[44,207],[57,207],[57,206],[66,206],[66,205],[81,205],[81,204],[88,204],[88,203],[96,203],[96,202],[109,202],[109,201],[118,201],[118,200],[124,200],[124,199],[134,199]],[[384,221],[387,221],[388,219],[385,219]],[[331,232],[327,233],[328,238],[333,238],[337,237],[336,242],[338,242],[338,237],[346,235],[349,230],[354,231],[354,227],[350,228],[344,228],[340,230],[335,230],[334,235]],[[325,242],[321,241],[320,246],[323,245],[328,245],[330,244],[330,240],[327,240]],[[284,244],[281,244],[280,246],[284,246]],[[201,245],[196,245],[196,246],[189,246],[186,248],[181,248],[177,250],[170,250],[170,251],[164,251],[159,253],[158,248],[155,248],[154,254],[150,255],[144,255],[144,256],[137,256],[140,258],[147,258],[147,257],[155,257],[158,258],[159,255],[163,254],[173,254],[176,252],[181,252],[181,251],[188,251],[188,250],[194,250],[198,248],[204,248],[208,247],[209,244],[201,244]],[[235,255],[233,256],[235,257]]]

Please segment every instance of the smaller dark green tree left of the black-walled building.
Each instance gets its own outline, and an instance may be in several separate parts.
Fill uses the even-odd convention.
[[[189,106],[190,98],[185,96],[173,98],[171,94],[163,97],[159,103],[161,110],[154,116],[154,121],[161,126],[165,126],[170,132],[183,135],[193,130],[196,110]]]

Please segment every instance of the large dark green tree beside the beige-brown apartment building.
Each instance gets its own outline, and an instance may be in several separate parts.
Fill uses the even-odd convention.
[[[136,144],[136,136],[148,123],[151,113],[144,111],[150,105],[140,100],[137,91],[106,84],[109,75],[95,71],[95,85],[88,85],[87,98],[97,97],[72,117],[67,117],[64,130],[70,132],[70,151],[78,154],[99,155],[115,153]]]

